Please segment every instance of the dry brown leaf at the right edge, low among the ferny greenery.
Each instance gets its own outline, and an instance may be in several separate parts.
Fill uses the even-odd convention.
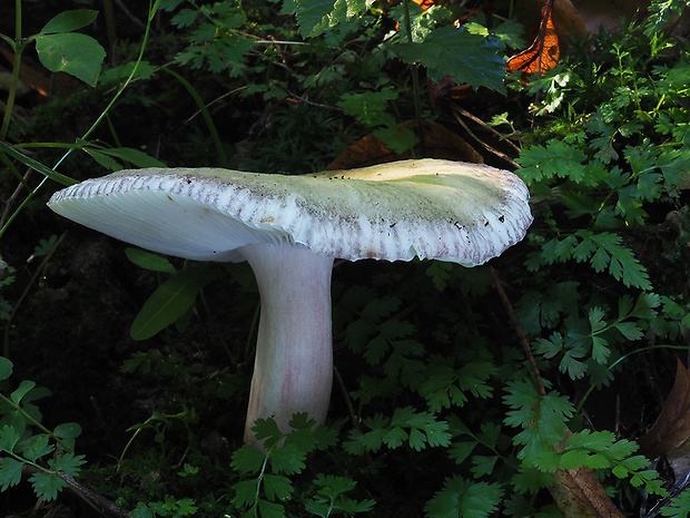
[[[678,360],[676,382],[652,428],[638,440],[650,459],[668,453],[690,438],[690,372]]]

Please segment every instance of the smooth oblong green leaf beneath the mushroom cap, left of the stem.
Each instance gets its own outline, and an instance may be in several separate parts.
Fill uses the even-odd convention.
[[[165,281],[151,294],[131,324],[134,340],[146,340],[170,325],[194,304],[199,290],[213,276],[203,264],[194,264]]]

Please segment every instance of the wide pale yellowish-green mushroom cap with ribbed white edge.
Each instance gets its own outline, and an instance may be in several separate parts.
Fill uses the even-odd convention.
[[[349,261],[413,257],[474,266],[521,241],[526,186],[480,164],[418,159],[286,176],[217,168],[130,169],[57,192],[50,208],[155,252],[243,261],[254,243]]]

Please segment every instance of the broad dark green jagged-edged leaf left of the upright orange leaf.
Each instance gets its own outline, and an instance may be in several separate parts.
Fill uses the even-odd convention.
[[[400,43],[394,51],[408,63],[421,62],[435,81],[450,75],[455,82],[505,92],[503,45],[497,38],[473,35],[455,26],[441,27],[422,43]]]

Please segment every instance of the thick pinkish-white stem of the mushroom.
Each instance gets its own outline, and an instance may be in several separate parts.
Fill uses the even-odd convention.
[[[239,252],[259,289],[262,314],[245,442],[262,448],[252,427],[273,417],[288,432],[293,413],[326,419],[333,382],[333,257],[294,245],[253,244]]]

